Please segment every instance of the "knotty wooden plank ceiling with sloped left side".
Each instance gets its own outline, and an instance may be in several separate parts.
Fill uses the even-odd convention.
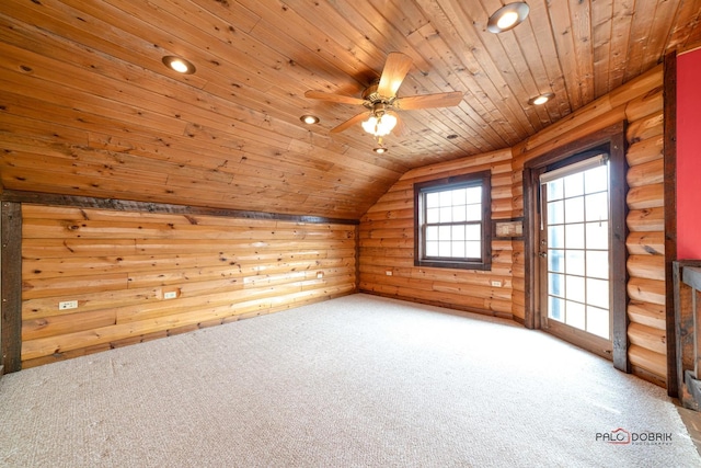
[[[406,170],[513,146],[701,43],[698,0],[528,3],[496,35],[499,0],[2,0],[3,187],[358,219]],[[391,52],[413,59],[399,95],[464,99],[401,111],[377,156],[329,132],[363,107],[304,92],[359,98]]]

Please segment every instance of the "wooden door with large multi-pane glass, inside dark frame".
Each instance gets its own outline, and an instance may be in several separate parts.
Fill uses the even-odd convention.
[[[540,175],[542,329],[611,357],[606,155]]]

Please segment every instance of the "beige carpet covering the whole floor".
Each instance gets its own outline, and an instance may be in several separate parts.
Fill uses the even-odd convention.
[[[354,295],[7,375],[0,466],[701,466],[662,388],[441,310]]]

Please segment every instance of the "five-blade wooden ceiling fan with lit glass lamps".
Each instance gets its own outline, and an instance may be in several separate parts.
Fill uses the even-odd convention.
[[[331,129],[332,134],[343,132],[358,122],[363,128],[376,137],[382,137],[390,132],[401,133],[399,118],[393,111],[409,111],[413,109],[450,107],[462,101],[459,91],[421,94],[399,98],[397,91],[404,81],[412,67],[412,59],[407,55],[393,52],[387,56],[380,79],[375,81],[363,92],[363,98],[353,98],[324,91],[307,91],[304,96],[340,104],[363,105],[366,111],[350,117],[346,122]]]

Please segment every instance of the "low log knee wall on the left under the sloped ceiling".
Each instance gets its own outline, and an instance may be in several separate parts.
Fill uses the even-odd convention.
[[[22,367],[356,287],[354,225],[33,204],[22,217]]]

